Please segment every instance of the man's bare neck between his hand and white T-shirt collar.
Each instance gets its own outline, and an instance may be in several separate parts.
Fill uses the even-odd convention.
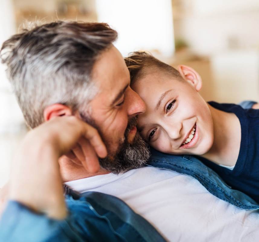
[[[102,168],[99,170],[99,172],[89,173],[82,165],[77,165],[64,156],[60,157],[59,165],[60,174],[62,176],[63,182],[74,181],[82,178],[110,173]]]

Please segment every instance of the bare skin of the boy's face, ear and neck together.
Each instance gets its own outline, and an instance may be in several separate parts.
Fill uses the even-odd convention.
[[[202,79],[195,70],[180,65],[178,71],[181,79],[149,67],[146,75],[132,83],[147,105],[138,117],[142,136],[161,152],[201,155],[217,164],[235,165],[241,142],[238,118],[203,100],[198,93]],[[192,141],[183,145],[194,127]]]

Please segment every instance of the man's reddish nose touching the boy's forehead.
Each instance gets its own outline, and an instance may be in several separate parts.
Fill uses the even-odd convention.
[[[138,93],[134,92],[131,88],[128,93],[128,116],[136,116],[146,111],[146,104]]]

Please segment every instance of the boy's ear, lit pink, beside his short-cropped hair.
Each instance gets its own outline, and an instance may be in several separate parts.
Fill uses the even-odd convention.
[[[179,65],[177,69],[183,79],[189,82],[193,87],[195,87],[197,92],[201,90],[202,79],[198,72],[196,72],[193,68],[185,65]]]

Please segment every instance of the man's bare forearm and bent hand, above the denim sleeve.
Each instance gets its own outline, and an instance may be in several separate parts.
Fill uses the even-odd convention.
[[[99,157],[107,155],[97,130],[74,116],[53,118],[28,132],[11,167],[9,199],[52,218],[66,217],[57,160],[79,140],[89,142]],[[99,162],[96,156],[92,157],[87,161],[86,168],[96,170]]]

